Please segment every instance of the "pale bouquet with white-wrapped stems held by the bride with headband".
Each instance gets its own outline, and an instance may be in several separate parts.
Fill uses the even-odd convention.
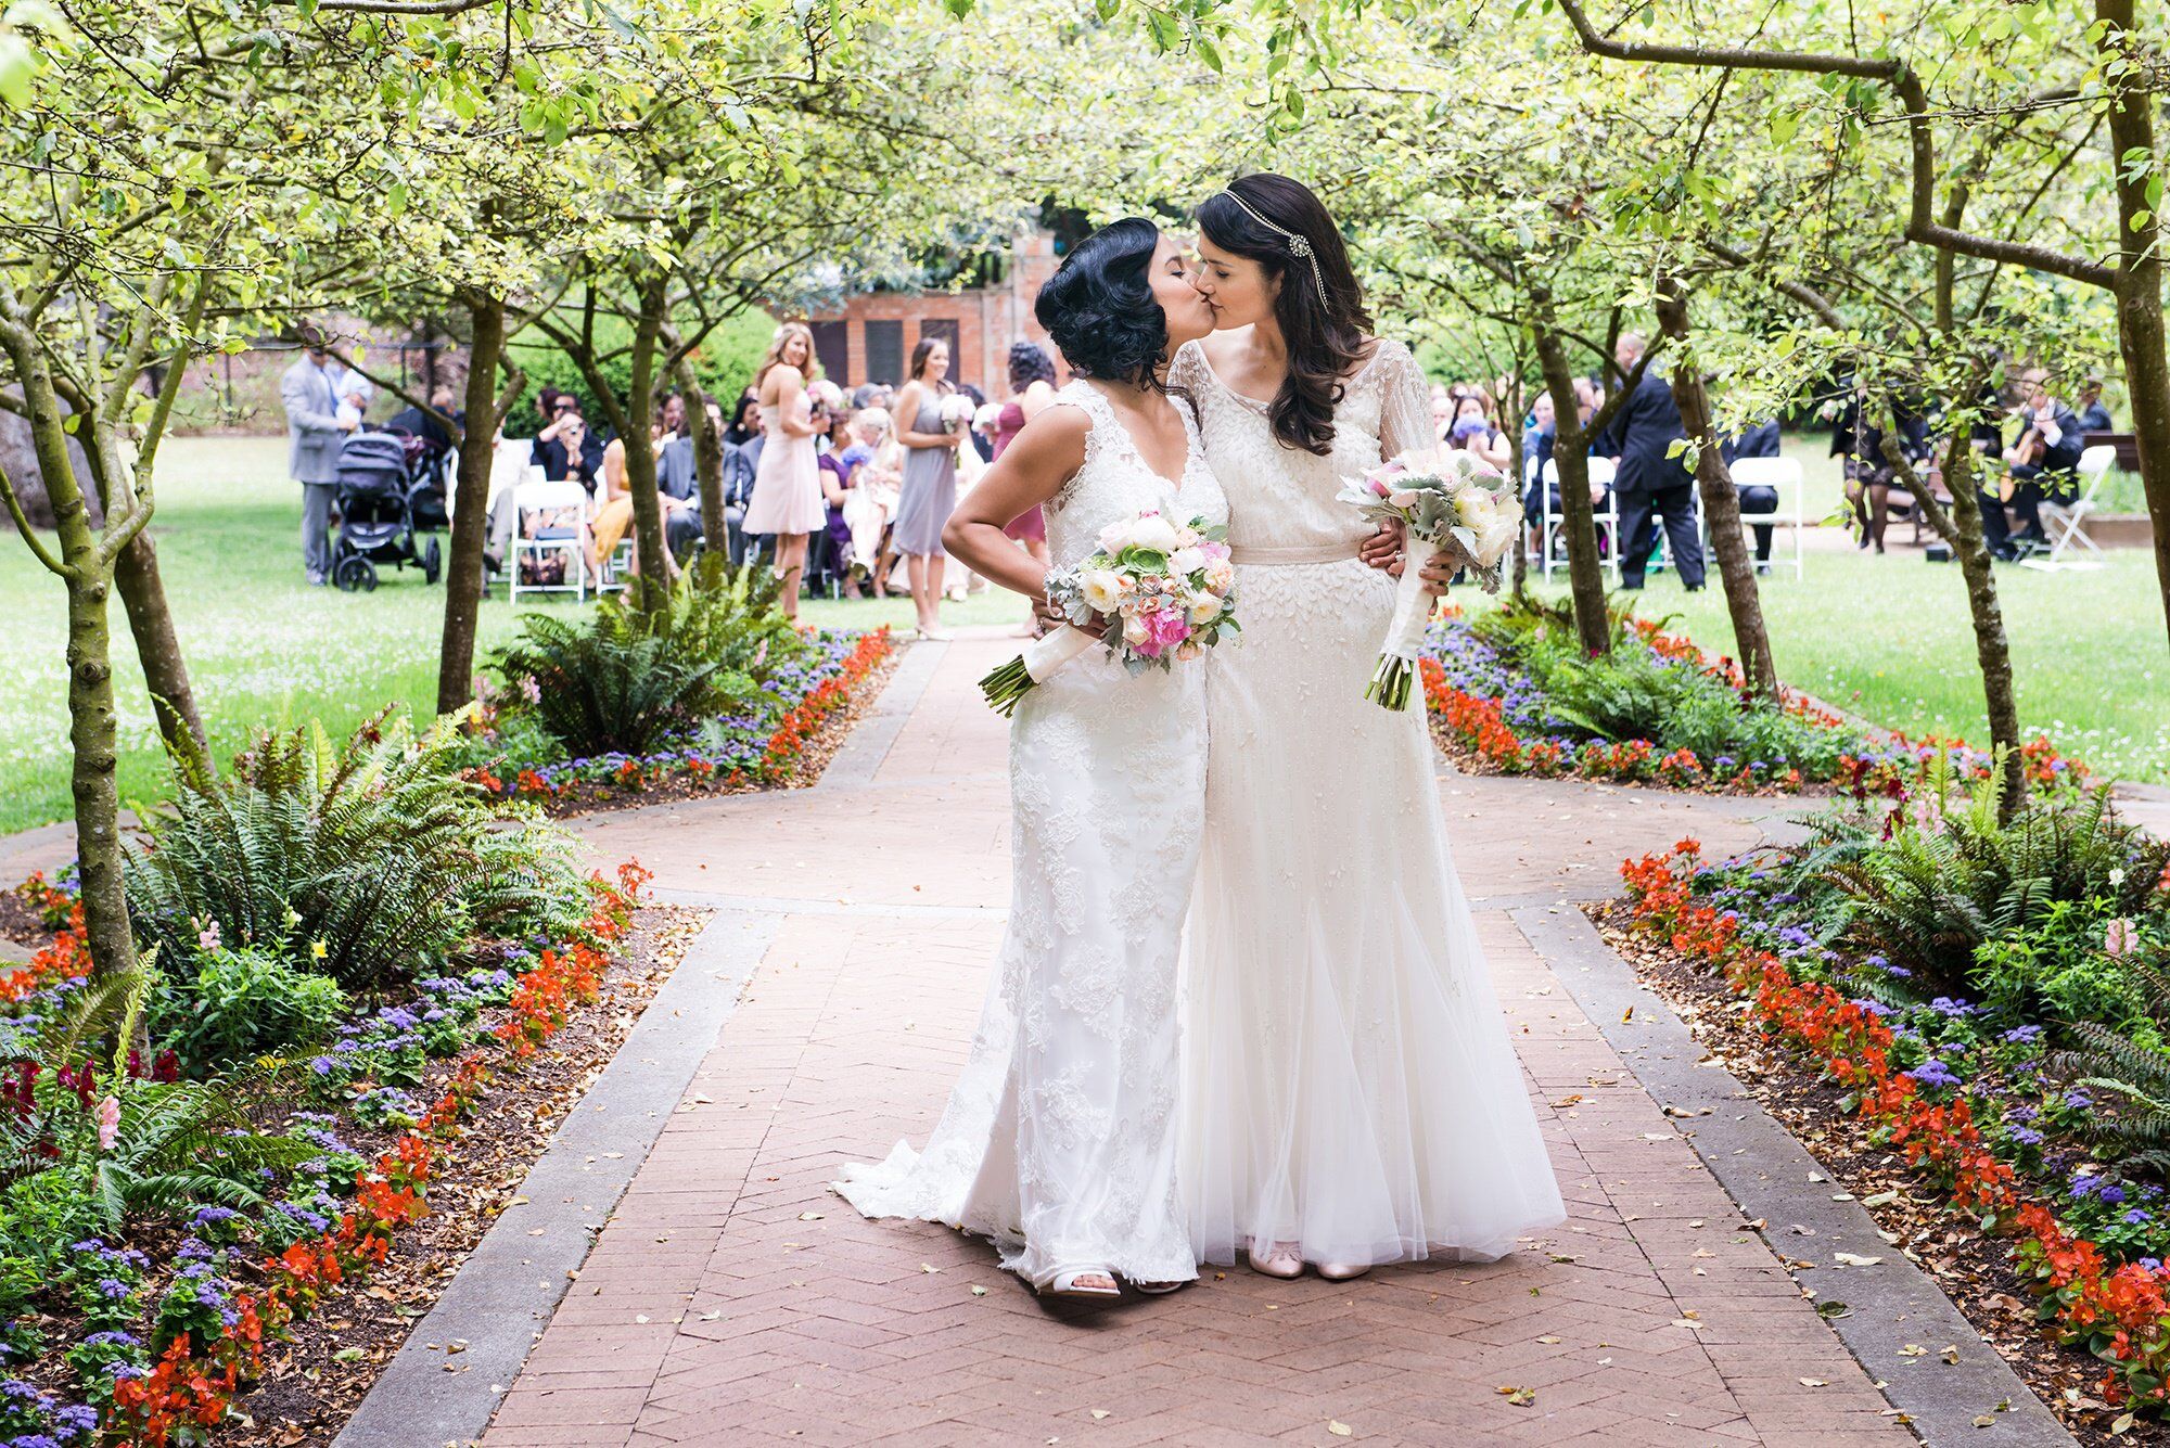
[[[1447,548],[1458,548],[1486,594],[1499,592],[1499,559],[1521,529],[1521,507],[1508,479],[1469,453],[1424,449],[1404,453],[1341,490],[1365,518],[1400,522],[1408,540],[1402,585],[1393,598],[1393,624],[1378,652],[1378,670],[1365,698],[1384,709],[1408,704],[1417,676],[1417,650],[1432,622],[1432,598],[1424,592],[1424,566]]]

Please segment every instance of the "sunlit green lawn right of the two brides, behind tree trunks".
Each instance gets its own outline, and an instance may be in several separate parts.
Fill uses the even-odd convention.
[[[1905,535],[1905,529],[1901,529]],[[1779,551],[1786,535],[1779,533]],[[1565,579],[1554,574],[1565,587]],[[2066,754],[2129,780],[2170,783],[2170,648],[2153,559],[2109,553],[2098,572],[1999,568],[2020,722]],[[1981,668],[1953,564],[1920,553],[1808,555],[1808,572],[1762,581],[1779,674],[1810,694],[1912,735],[1986,741]],[[1645,616],[1677,613],[1695,642],[1734,652],[1716,581],[1682,592],[1651,574]]]

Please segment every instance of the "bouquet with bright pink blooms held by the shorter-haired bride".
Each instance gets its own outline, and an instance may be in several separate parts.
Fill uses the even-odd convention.
[[[1237,633],[1228,529],[1204,518],[1174,522],[1157,512],[1100,529],[1098,551],[1076,568],[1048,572],[1048,600],[1072,626],[1035,639],[979,681],[1009,715],[1018,700],[1094,644],[1133,674],[1196,659]]]

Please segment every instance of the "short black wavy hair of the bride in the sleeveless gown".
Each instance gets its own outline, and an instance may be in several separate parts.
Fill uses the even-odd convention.
[[[1157,386],[1167,360],[1167,312],[1150,277],[1159,245],[1161,228],[1144,217],[1111,221],[1039,288],[1033,316],[1078,377]]]

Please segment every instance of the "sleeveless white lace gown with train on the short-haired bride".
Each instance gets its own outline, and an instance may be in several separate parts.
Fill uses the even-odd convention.
[[[1226,522],[1187,410],[1176,486],[1092,384],[1055,405],[1092,418],[1085,464],[1046,505],[1057,568],[1139,512]],[[898,1142],[844,1168],[851,1205],[994,1238],[1035,1285],[1085,1268],[1198,1275],[1176,1190],[1176,967],[1204,791],[1202,661],[1133,676],[1092,648],[1024,696],[1009,731],[1009,930],[970,1058],[922,1153]]]

